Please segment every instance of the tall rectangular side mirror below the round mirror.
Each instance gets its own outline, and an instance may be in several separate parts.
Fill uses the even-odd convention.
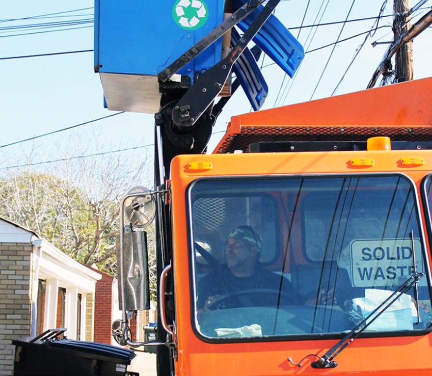
[[[124,233],[122,238],[123,247],[117,247],[120,310],[148,310],[150,309],[150,289],[147,233],[144,231],[129,232]],[[120,255],[121,251],[123,257]],[[121,265],[119,265],[120,262]]]

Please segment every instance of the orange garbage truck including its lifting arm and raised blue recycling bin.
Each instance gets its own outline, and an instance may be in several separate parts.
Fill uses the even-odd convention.
[[[432,80],[259,110],[260,52],[291,76],[304,55],[278,2],[145,3],[158,23],[97,1],[107,107],[156,124],[155,188],[121,202],[114,336],[156,347],[159,376],[431,375]],[[147,44],[121,38],[136,30]],[[207,154],[239,85],[257,111]],[[153,218],[157,338],[139,343]]]

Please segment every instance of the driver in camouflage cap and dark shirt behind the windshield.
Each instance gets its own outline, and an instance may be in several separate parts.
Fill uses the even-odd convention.
[[[290,300],[296,300],[288,279],[263,268],[259,262],[261,248],[261,238],[250,226],[240,226],[229,233],[225,247],[226,265],[204,276],[198,283],[199,312],[208,311],[209,307],[213,308],[212,302],[223,295],[230,296],[221,300],[217,308],[243,305],[276,307],[278,304],[287,303],[286,293],[291,295]],[[254,289],[257,290],[256,294],[253,292]],[[271,292],[269,294],[269,291],[262,289]],[[250,293],[245,293],[242,299],[242,291]],[[279,291],[282,293],[278,294]],[[239,294],[235,294],[237,292]],[[246,304],[242,304],[244,299],[247,301]]]

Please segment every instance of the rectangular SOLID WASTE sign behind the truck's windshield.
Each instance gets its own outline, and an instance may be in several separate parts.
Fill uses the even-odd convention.
[[[388,286],[421,271],[421,243],[414,239],[373,239],[351,242],[351,277],[355,287]]]

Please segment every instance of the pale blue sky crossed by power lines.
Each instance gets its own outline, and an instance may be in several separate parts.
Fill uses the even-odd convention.
[[[323,0],[310,0],[308,13],[304,25],[314,23],[319,6]],[[327,0],[324,0],[327,2]],[[413,1],[415,5],[418,1]],[[300,26],[308,0],[285,0],[276,8],[276,16],[285,26]],[[330,0],[321,23],[343,21],[347,17],[351,0]],[[354,2],[349,19],[378,16],[381,0],[357,0]],[[75,0],[71,2],[46,0],[40,1],[3,1],[0,19],[0,57],[21,56],[31,54],[49,54],[66,51],[81,51],[93,49],[93,27],[89,24],[75,27],[86,27],[66,31],[37,33],[32,35],[15,35],[26,32],[49,31],[28,29],[4,29],[32,23],[54,21],[91,19],[94,3],[91,0]],[[417,12],[416,18],[431,9],[432,0],[426,1],[423,10]],[[68,17],[39,18],[37,20],[7,21],[56,12],[76,9],[82,11],[71,12]],[[384,15],[392,13],[392,1],[388,1]],[[79,17],[80,16],[80,17]],[[391,25],[391,17],[383,18],[380,26]],[[341,39],[369,30],[374,20],[365,20],[346,24]],[[74,27],[74,26],[73,26]],[[315,37],[310,43],[307,39],[308,30],[303,29],[299,41],[315,49],[336,41],[342,24],[318,27]],[[297,30],[292,30],[297,37]],[[151,38],[151,35],[146,36]],[[169,36],[167,36],[169,38]],[[341,79],[356,48],[363,42],[365,36],[359,36],[340,43],[334,50],[327,69],[318,86],[313,99],[331,95],[337,82]],[[342,81],[336,94],[362,90],[366,87],[373,72],[378,66],[387,45],[372,48],[373,41],[390,41],[391,28],[384,27],[377,30],[374,37],[369,38],[361,53],[354,61],[351,69]],[[414,50],[414,78],[431,76],[432,61],[432,32],[431,28],[418,36],[413,45]],[[324,65],[332,51],[332,47],[307,54],[297,74],[296,79],[285,101],[281,104],[291,104],[308,101],[323,72]],[[275,65],[270,65],[269,58],[265,58],[263,74],[269,83],[270,92],[263,108],[274,107],[283,80],[282,71]],[[261,64],[261,61],[260,61]],[[285,81],[287,82],[287,81]],[[286,91],[285,91],[286,92]],[[285,97],[285,95],[283,95]],[[281,98],[279,96],[279,98]],[[234,95],[219,117],[215,132],[225,129],[230,117],[250,111],[250,105],[243,93]],[[112,111],[103,107],[103,91],[97,74],[93,72],[93,54],[66,54],[56,56],[34,57],[0,60],[0,146],[9,142],[32,137],[38,134],[52,132],[61,128],[87,122],[107,116]],[[210,148],[216,146],[222,134],[212,137]],[[78,140],[78,141],[77,141]],[[0,148],[1,168],[8,166],[11,161],[24,161],[25,154],[32,152],[32,161],[46,161],[55,159],[55,150],[60,147],[70,155],[79,153],[79,145],[88,145],[89,152],[96,150],[92,142],[97,140],[98,151],[110,151],[127,147],[143,146],[153,143],[153,115],[125,113],[110,119],[98,121],[34,141],[20,143],[14,146]],[[142,158],[144,150],[152,153],[152,148],[140,149]],[[81,151],[82,153],[82,151]],[[128,153],[122,154],[128,158]],[[12,159],[10,159],[12,156]],[[107,155],[110,158],[112,155]],[[136,156],[134,157],[136,158]],[[151,162],[151,161],[149,161]],[[38,168],[44,169],[46,164]]]

